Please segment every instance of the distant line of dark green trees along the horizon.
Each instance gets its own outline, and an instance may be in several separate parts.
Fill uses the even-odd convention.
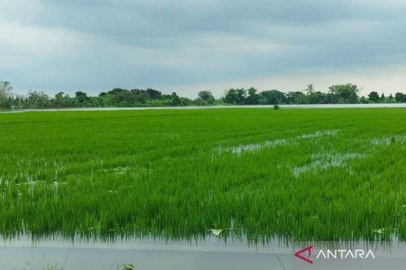
[[[43,92],[28,91],[26,96],[12,94],[9,82],[0,82],[0,108],[71,108],[71,107],[156,107],[156,106],[206,106],[206,105],[274,105],[274,104],[350,104],[350,103],[402,103],[406,102],[406,94],[397,92],[381,96],[378,92],[370,92],[367,97],[359,97],[359,90],[354,84],[333,85],[327,93],[315,91],[309,84],[304,92],[284,93],[279,90],[258,92],[255,88],[229,89],[224,96],[216,99],[211,91],[200,91],[196,99],[180,97],[176,92],[163,94],[154,89],[126,90],[114,88],[101,92],[98,96],[87,96],[78,91],[75,97],[57,93],[49,97]]]

